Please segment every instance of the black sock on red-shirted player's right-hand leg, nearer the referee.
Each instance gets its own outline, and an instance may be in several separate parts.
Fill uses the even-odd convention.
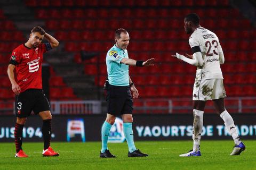
[[[51,119],[43,120],[42,127],[43,137],[44,137],[44,150],[50,147],[52,128]]]

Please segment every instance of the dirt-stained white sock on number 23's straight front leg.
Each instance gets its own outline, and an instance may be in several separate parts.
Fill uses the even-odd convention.
[[[200,150],[201,133],[204,124],[204,111],[198,111],[193,109],[194,123],[193,123],[193,151],[197,152]]]

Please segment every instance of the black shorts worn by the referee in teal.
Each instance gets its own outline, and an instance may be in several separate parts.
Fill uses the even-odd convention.
[[[117,116],[132,114],[133,101],[129,86],[113,86],[107,88],[107,113]]]

